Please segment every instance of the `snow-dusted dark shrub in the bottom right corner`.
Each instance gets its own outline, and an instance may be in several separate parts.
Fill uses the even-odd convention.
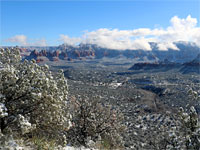
[[[154,149],[166,150],[199,150],[200,149],[200,122],[195,108],[188,110],[180,108],[178,114],[174,115],[176,124],[166,126],[157,132]]]

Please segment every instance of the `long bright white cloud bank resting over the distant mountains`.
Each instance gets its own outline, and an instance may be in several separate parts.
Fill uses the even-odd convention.
[[[118,30],[101,28],[85,32],[81,37],[70,38],[62,34],[60,41],[69,45],[77,43],[97,44],[104,48],[119,50],[151,50],[149,42],[157,42],[159,50],[168,50],[168,48],[178,50],[173,42],[190,41],[200,46],[200,27],[197,27],[197,19],[190,15],[185,19],[174,16],[170,20],[170,26],[166,29]]]

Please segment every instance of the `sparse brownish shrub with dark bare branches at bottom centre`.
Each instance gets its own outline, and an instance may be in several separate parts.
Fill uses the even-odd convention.
[[[125,130],[123,115],[110,105],[102,105],[99,100],[88,98],[72,99],[73,125],[68,131],[68,141],[72,145],[89,146],[88,143],[102,142],[106,147],[123,146],[121,134]]]

